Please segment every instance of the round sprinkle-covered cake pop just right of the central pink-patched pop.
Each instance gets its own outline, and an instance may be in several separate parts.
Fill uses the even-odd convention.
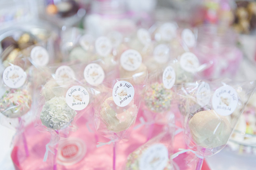
[[[163,83],[153,83],[147,89],[144,100],[149,110],[156,113],[166,111],[171,106],[172,92],[166,89]]]

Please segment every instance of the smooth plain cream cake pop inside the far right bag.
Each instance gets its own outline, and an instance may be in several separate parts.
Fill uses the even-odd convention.
[[[194,142],[201,147],[215,148],[228,142],[231,134],[230,122],[215,110],[196,113],[189,120],[189,128]]]

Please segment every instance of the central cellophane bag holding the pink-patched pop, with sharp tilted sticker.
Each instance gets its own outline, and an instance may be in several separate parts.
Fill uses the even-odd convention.
[[[114,79],[94,91],[93,115],[96,130],[103,136],[127,141],[135,123],[147,83],[147,76]]]

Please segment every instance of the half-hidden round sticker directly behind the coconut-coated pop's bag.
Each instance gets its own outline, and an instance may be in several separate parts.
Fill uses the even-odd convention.
[[[75,72],[69,66],[60,66],[55,72],[57,81],[70,81],[75,78]]]

